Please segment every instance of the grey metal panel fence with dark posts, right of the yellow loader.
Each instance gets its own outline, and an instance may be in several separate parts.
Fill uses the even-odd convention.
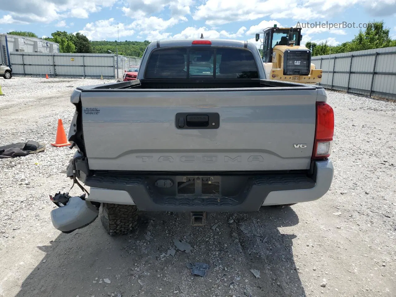
[[[312,57],[328,89],[396,99],[396,47]]]

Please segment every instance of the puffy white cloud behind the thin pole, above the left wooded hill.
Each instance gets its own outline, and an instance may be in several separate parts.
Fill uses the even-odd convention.
[[[135,32],[131,30],[132,25],[118,24],[118,33],[120,37],[131,36]],[[83,30],[78,31],[88,37],[89,40],[117,39],[117,23],[114,18],[100,20],[85,25]]]

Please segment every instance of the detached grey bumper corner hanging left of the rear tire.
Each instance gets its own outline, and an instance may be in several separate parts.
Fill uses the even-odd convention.
[[[99,208],[78,196],[70,197],[65,206],[51,211],[53,227],[63,233],[70,233],[93,223],[99,215]]]

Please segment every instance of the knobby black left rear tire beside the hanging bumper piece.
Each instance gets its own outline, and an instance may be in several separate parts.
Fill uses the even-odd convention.
[[[136,228],[137,207],[135,205],[102,203],[101,222],[110,236],[128,234]]]

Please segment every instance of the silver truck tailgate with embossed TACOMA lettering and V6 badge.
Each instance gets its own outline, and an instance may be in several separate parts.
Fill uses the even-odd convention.
[[[303,88],[82,90],[82,128],[89,168],[309,169],[316,97],[316,89]],[[209,114],[212,120],[218,114],[219,123],[210,129],[181,129],[178,113],[198,115],[190,118],[192,121],[205,121]]]

